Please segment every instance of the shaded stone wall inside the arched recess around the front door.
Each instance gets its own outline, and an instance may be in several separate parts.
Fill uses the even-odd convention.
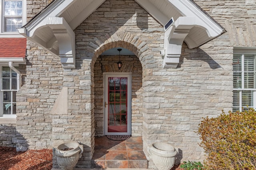
[[[117,68],[119,56],[100,55],[94,64],[95,136],[103,136],[103,72],[132,72],[132,136],[142,136],[142,66],[136,56],[122,56],[121,70]]]

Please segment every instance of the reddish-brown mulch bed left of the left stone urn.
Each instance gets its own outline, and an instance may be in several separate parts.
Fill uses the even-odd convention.
[[[0,147],[0,170],[51,170],[52,150],[16,152],[16,148]]]

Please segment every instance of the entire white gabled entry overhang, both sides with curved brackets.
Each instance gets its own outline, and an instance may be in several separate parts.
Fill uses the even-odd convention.
[[[73,30],[105,1],[54,0],[18,31],[53,55],[60,56],[63,68],[75,68]],[[165,29],[165,48],[162,54],[166,68],[176,68],[178,63],[175,62],[180,56],[183,41],[189,48],[194,48],[225,32],[191,0],[135,1],[163,26],[171,18],[175,21]],[[178,41],[172,42],[171,39]]]

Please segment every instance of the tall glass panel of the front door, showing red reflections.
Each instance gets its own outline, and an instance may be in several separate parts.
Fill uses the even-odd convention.
[[[108,132],[127,132],[127,77],[108,77]]]

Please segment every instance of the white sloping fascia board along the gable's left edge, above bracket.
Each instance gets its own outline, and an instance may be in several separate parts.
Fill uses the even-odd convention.
[[[61,12],[67,9],[74,2],[76,2],[76,0],[55,0],[52,2],[52,4],[50,4],[50,6],[43,10],[38,16],[36,16],[24,27],[26,27],[28,32],[30,32],[32,29],[34,29],[34,27],[41,25],[40,23],[45,20],[45,18],[60,16]]]

